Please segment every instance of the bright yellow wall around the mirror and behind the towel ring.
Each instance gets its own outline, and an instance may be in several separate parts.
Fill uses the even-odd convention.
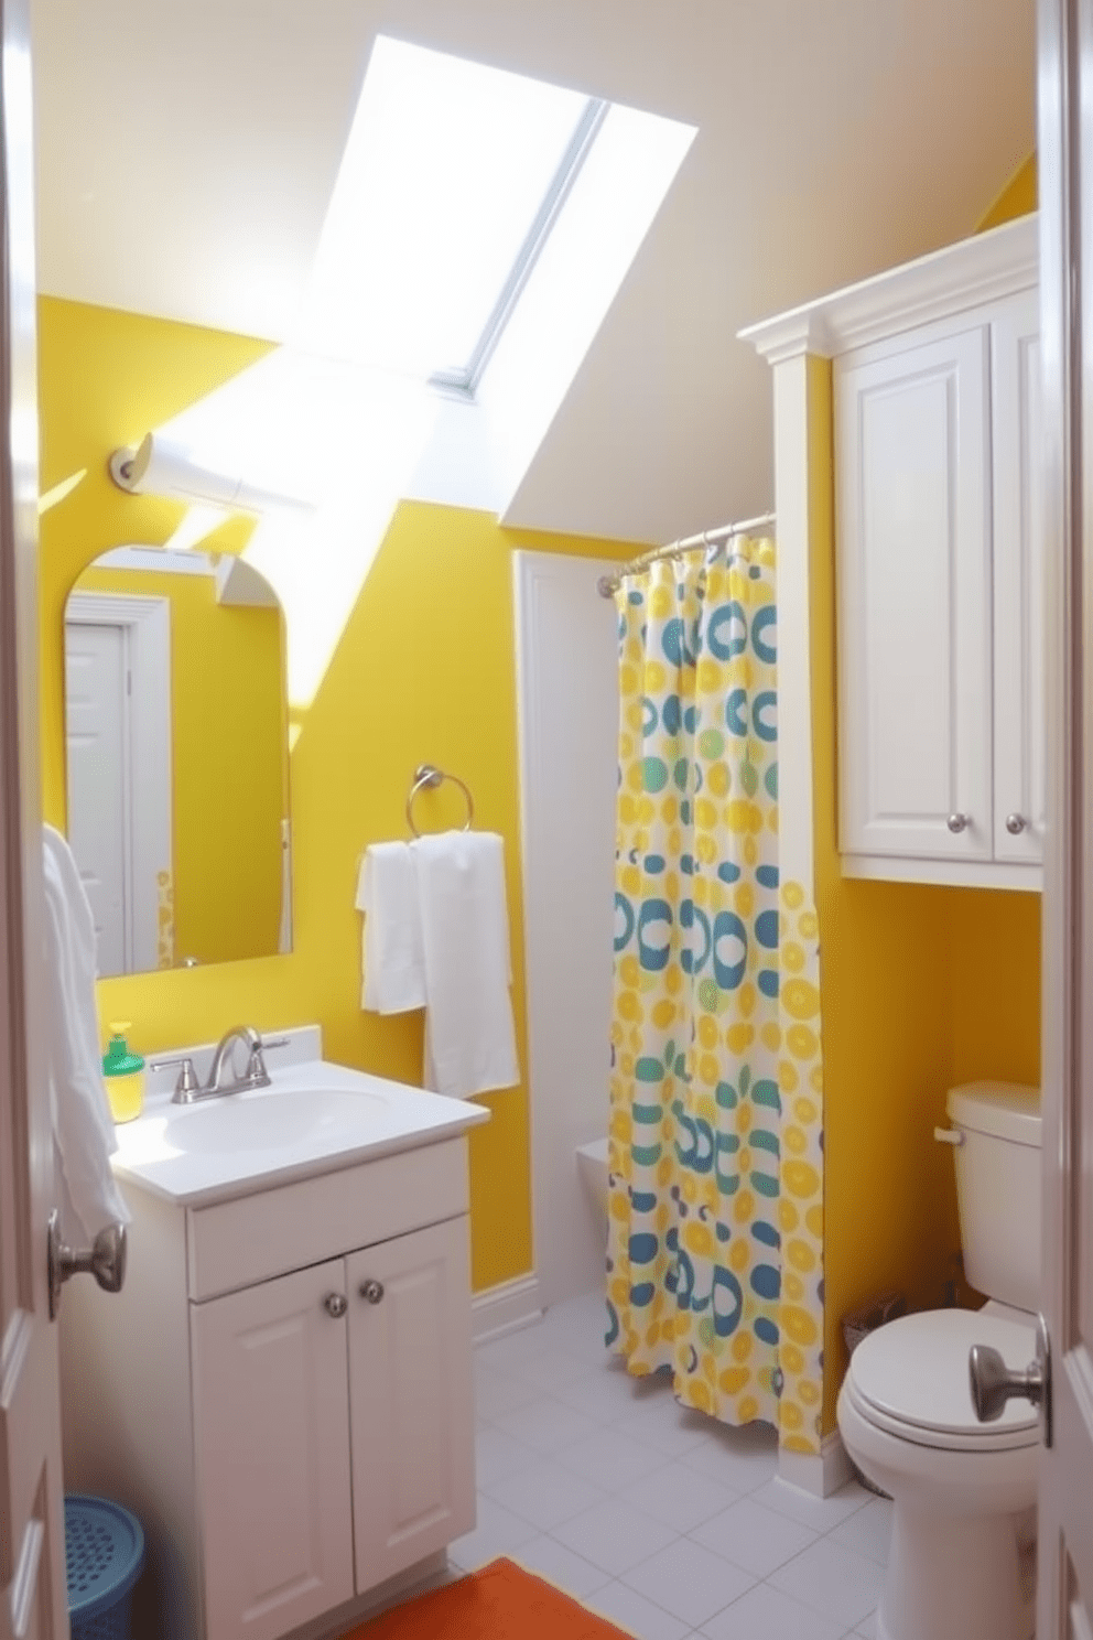
[[[43,302],[39,326],[43,490],[82,467],[88,474],[43,518],[43,756],[48,817],[59,820],[64,599],[98,553],[123,541],[162,541],[179,517],[175,507],[116,490],[105,476],[107,456],[265,344],[52,300]],[[429,759],[469,782],[477,823],[505,838],[516,1036],[526,1066],[511,595],[519,546],[611,558],[634,551],[508,531],[478,512],[398,508],[292,753],[292,956],[105,981],[103,1020],[131,1018],[141,1050],[210,1040],[239,1020],[262,1030],[318,1020],[331,1058],[418,1082],[421,1015],[361,1012],[361,918],[352,900],[362,850],[405,836],[410,776]],[[459,794],[429,794],[438,823],[449,800]],[[456,820],[451,810],[447,817]],[[533,1261],[526,1082],[483,1104],[493,1120],[470,1137],[477,1289],[519,1276]]]

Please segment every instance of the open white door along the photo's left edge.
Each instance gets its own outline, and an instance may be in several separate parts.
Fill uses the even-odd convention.
[[[0,1640],[69,1633],[43,1059],[29,25],[0,0]]]

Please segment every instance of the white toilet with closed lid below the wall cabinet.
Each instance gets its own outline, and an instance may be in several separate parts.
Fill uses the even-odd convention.
[[[968,1351],[1024,1368],[1041,1291],[1037,1087],[970,1082],[947,1100],[964,1266],[982,1310],[926,1310],[870,1333],[839,1392],[854,1463],[895,1502],[878,1640],[1031,1640],[1041,1427],[1027,1401],[972,1407]]]

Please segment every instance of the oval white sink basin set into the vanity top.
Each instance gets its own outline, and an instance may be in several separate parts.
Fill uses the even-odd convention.
[[[241,1099],[224,1094],[198,1109],[170,1117],[164,1138],[175,1150],[283,1150],[361,1127],[362,1117],[385,1107],[380,1094],[338,1089],[280,1089]]]

